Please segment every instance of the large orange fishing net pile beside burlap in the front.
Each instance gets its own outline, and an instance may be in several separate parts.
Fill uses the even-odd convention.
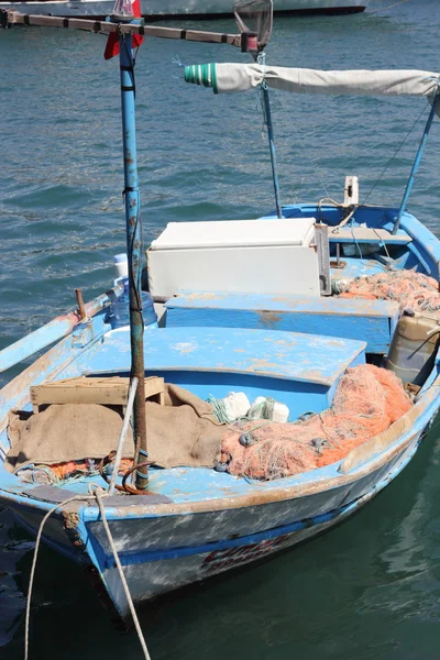
[[[264,481],[308,472],[340,461],[410,407],[393,372],[362,364],[346,370],[332,407],[323,413],[294,424],[256,427],[254,420],[229,427],[221,461],[231,474]]]

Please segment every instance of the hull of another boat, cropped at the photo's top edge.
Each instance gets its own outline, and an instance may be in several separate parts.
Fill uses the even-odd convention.
[[[285,15],[349,14],[362,12],[369,0],[275,0],[274,10]],[[0,1],[0,9],[53,16],[96,16],[111,14],[113,0],[24,0]],[[142,15],[160,19],[212,19],[232,15],[230,0],[147,0]]]

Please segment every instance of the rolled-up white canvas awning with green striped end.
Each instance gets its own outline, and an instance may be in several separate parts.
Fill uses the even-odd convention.
[[[185,80],[212,87],[215,94],[246,91],[263,81],[268,87],[296,94],[408,95],[433,98],[440,89],[440,75],[433,72],[417,69],[322,72],[260,64],[187,66]]]

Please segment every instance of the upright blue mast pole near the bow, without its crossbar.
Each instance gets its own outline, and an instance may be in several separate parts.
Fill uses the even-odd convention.
[[[136,162],[136,125],[134,107],[134,72],[131,34],[119,40],[122,101],[122,139],[124,160],[124,196],[127,222],[127,253],[129,255],[130,285],[130,343],[131,376],[136,377],[138,389],[133,407],[133,435],[135,457],[139,462],[147,458],[145,425],[145,367],[144,367],[144,322],[142,317],[142,229],[140,217],[140,194]],[[136,471],[136,488],[145,491],[148,485],[146,465]]]

